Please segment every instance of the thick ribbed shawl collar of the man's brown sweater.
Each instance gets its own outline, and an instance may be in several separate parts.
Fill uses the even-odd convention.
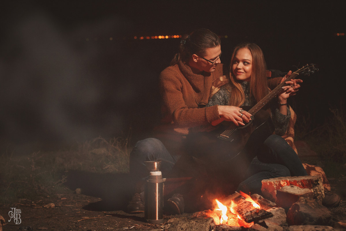
[[[184,77],[190,82],[192,88],[201,92],[204,90],[204,78],[209,77],[211,73],[203,71],[201,74],[194,74],[190,66],[186,65],[182,61],[178,63],[180,71],[183,73]]]

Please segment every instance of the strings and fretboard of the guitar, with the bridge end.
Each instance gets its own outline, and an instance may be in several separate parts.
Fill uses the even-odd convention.
[[[257,113],[258,110],[260,110],[264,105],[266,105],[274,96],[276,96],[281,90],[282,87],[286,84],[285,82],[290,80],[290,79],[295,79],[297,75],[299,75],[300,72],[306,70],[307,68],[310,68],[311,66],[303,66],[301,69],[293,72],[289,77],[287,77],[282,83],[280,83],[278,86],[276,86],[268,95],[263,97],[254,107],[252,107],[248,112],[253,115],[253,113]],[[263,105],[262,105],[263,104]],[[237,129],[237,126],[235,124],[231,124],[229,128],[222,132],[220,136],[229,136],[229,134],[233,133]]]

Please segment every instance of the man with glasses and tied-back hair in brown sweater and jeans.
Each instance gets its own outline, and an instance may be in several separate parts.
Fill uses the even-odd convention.
[[[188,154],[184,142],[190,128],[207,126],[220,116],[228,121],[234,119],[227,106],[203,107],[211,95],[212,81],[224,75],[220,57],[220,39],[210,30],[198,29],[182,37],[179,52],[160,74],[163,117],[155,128],[155,138],[138,141],[130,153],[135,195],[127,206],[127,212],[144,210],[144,179],[148,175],[144,161],[160,160],[162,175],[167,177],[177,160]],[[246,116],[243,119],[248,122]],[[237,123],[243,124],[243,119]],[[168,198],[164,206],[167,213],[184,212],[181,194],[169,195]]]

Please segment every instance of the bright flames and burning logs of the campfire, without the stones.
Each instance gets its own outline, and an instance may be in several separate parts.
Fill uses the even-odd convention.
[[[251,227],[255,220],[270,217],[271,214],[261,210],[261,206],[249,195],[240,191],[225,198],[224,203],[215,199],[217,207],[206,215],[212,217],[216,225]]]

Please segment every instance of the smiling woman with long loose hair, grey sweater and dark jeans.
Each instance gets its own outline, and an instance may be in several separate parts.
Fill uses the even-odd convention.
[[[253,43],[238,45],[231,58],[228,84],[210,98],[207,106],[229,105],[235,106],[235,110],[240,107],[239,117],[243,118],[246,112],[244,106],[254,106],[269,93],[265,71],[266,64],[260,47]],[[263,145],[253,149],[256,153],[252,155],[256,157],[249,165],[245,180],[239,184],[238,190],[262,194],[263,179],[307,175],[298,155],[281,137],[291,117],[287,99],[300,87],[299,82],[302,81],[287,82],[291,85],[283,87],[279,95],[264,108],[270,112],[275,132]],[[218,119],[212,124],[217,125],[222,120]]]

